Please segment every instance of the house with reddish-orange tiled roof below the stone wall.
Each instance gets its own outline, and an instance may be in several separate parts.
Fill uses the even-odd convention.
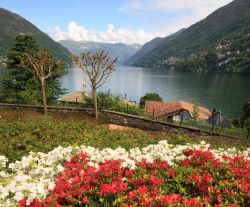
[[[201,106],[198,106],[199,120],[207,120],[212,113]],[[145,104],[145,111],[158,119],[173,119],[174,121],[180,121],[181,118],[192,119],[195,105],[185,101],[173,101],[173,102],[160,102],[160,101],[147,101]]]

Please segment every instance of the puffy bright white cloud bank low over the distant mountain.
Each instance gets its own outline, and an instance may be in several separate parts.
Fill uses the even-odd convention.
[[[66,30],[55,26],[48,30],[48,34],[56,41],[71,39],[75,41],[95,41],[109,43],[144,44],[157,36],[159,33],[146,34],[143,30],[133,31],[124,28],[115,28],[113,24],[107,25],[105,31],[88,30],[85,27],[71,21]]]

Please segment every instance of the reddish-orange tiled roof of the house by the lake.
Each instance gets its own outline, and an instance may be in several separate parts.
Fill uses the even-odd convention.
[[[182,110],[189,111],[190,115],[194,111],[195,105],[185,101],[174,101],[174,102],[160,102],[160,101],[147,101],[145,105],[145,111],[155,117],[160,117],[168,114],[178,114]],[[153,112],[154,111],[154,112]],[[211,112],[199,106],[199,116],[198,119],[206,120],[211,116]]]

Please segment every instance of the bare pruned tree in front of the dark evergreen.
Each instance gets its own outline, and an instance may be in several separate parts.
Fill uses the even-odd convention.
[[[45,115],[48,114],[46,99],[46,80],[60,68],[60,65],[61,61],[55,62],[53,60],[52,54],[47,50],[37,55],[25,52],[21,57],[20,66],[33,74],[38,79],[41,85],[42,104]]]

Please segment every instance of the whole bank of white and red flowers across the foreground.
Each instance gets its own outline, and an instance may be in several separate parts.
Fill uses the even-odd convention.
[[[160,141],[0,156],[0,206],[250,206],[250,149]]]

